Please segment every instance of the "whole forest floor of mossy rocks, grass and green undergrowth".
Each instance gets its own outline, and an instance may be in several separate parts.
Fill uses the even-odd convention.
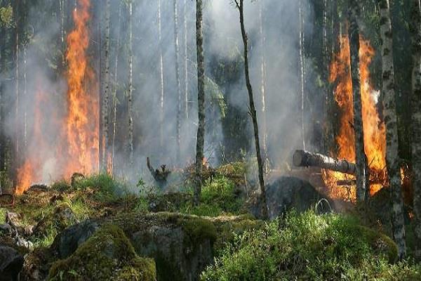
[[[139,181],[137,194],[107,174],[34,186],[0,207],[0,247],[24,257],[21,280],[421,280],[396,261],[384,208],[261,221],[246,169],[206,169],[199,206],[188,176],[165,192]]]

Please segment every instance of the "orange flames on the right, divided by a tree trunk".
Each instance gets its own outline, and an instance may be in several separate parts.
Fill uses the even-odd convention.
[[[330,82],[336,83],[335,101],[341,112],[340,131],[336,137],[338,144],[339,159],[346,159],[349,162],[355,162],[355,140],[354,129],[352,123],[354,120],[353,104],[352,104],[352,79],[350,72],[349,58],[349,40],[348,37],[340,39],[341,50],[335,55],[333,63],[330,65]],[[386,136],[385,124],[380,120],[377,112],[378,91],[373,89],[370,83],[369,66],[375,55],[374,49],[370,43],[360,38],[360,73],[361,73],[361,100],[363,109],[363,130],[364,130],[364,146],[370,167],[371,181],[375,182],[370,186],[370,194],[380,190],[387,182],[387,171],[385,151]],[[373,173],[374,172],[374,173]],[[351,177],[351,178],[350,178]],[[324,171],[324,181],[330,187],[330,195],[335,198],[348,198],[355,200],[355,188],[346,190],[338,187],[338,181],[346,181],[354,179],[349,176],[335,171]]]

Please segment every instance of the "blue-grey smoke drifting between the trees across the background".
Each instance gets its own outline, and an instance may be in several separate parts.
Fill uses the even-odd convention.
[[[18,162],[27,157],[39,158],[42,170],[39,181],[48,182],[60,178],[60,165],[63,159],[53,159],[58,145],[63,116],[66,114],[67,86],[62,72],[58,71],[60,53],[60,1],[37,1],[32,5],[27,17],[29,30],[33,36],[26,47],[25,95],[20,95],[20,110],[16,122],[15,85],[6,87],[6,103],[10,105],[7,118],[7,133],[15,138],[18,132],[20,143],[27,140],[25,153],[20,153]],[[72,2],[72,1],[69,1]],[[133,181],[139,177],[150,179],[146,169],[146,157],[154,166],[186,166],[194,162],[197,129],[197,79],[196,79],[196,3],[178,0],[178,44],[179,69],[182,100],[182,122],[180,124],[180,158],[177,157],[178,136],[178,89],[175,76],[175,32],[173,1],[161,0],[161,42],[158,29],[158,1],[133,1],[133,105],[134,105],[134,145],[135,163],[128,164],[128,9],[125,1],[111,1],[110,30],[110,81],[111,92],[116,93],[116,134],[114,171],[119,176]],[[312,6],[305,3],[305,33],[312,34]],[[259,11],[262,8],[262,22]],[[99,34],[105,25],[105,5],[92,1],[90,23],[91,41],[89,55],[91,66],[100,77],[103,63],[100,61]],[[72,29],[71,11],[73,4],[65,7],[65,32]],[[229,142],[224,129],[224,110],[235,109],[246,118],[246,124],[238,128],[238,133],[246,135],[245,141],[253,155],[253,130],[248,118],[248,93],[242,68],[243,42],[239,23],[239,11],[227,0],[206,1],[203,10],[203,33],[206,58],[208,98],[206,101],[206,157],[213,165],[219,164],[223,157],[222,146]],[[185,30],[185,18],[187,29]],[[249,40],[250,77],[255,95],[256,110],[263,131],[261,98],[261,64],[265,59],[265,95],[267,119],[268,155],[274,166],[281,166],[290,157],[290,152],[301,148],[300,134],[300,58],[299,58],[299,16],[298,1],[261,0],[245,1],[245,24]],[[260,44],[260,24],[265,37],[264,46]],[[187,58],[185,42],[187,41]],[[161,68],[160,52],[163,55],[163,128],[161,129]],[[118,55],[118,58],[117,58]],[[185,62],[187,60],[187,105],[188,118],[185,117]],[[239,63],[235,74],[221,82],[215,75],[215,65]],[[117,69],[116,69],[117,65]],[[220,67],[220,66],[219,66]],[[308,70],[312,68],[307,63]],[[13,77],[12,70],[7,77]],[[309,72],[309,71],[307,71]],[[116,74],[116,79],[114,75]],[[23,74],[20,74],[20,83]],[[5,78],[5,77],[3,77]],[[310,80],[312,77],[308,77]],[[307,81],[309,89],[311,81]],[[20,93],[22,93],[21,86]],[[41,104],[36,102],[36,93],[42,92]],[[220,96],[218,96],[220,95]],[[223,102],[220,98],[223,97]],[[225,105],[224,105],[225,104]],[[113,105],[110,96],[110,107]],[[226,107],[225,107],[226,106]],[[41,110],[41,141],[34,136],[36,131],[36,110]],[[109,147],[112,146],[112,126],[114,112],[109,112]],[[26,116],[26,119],[25,119]],[[306,124],[309,128],[310,124]],[[243,131],[243,132],[242,132]],[[162,134],[161,134],[162,132]],[[24,136],[26,133],[26,136]],[[239,145],[241,146],[241,145]],[[32,155],[32,156],[31,156]]]

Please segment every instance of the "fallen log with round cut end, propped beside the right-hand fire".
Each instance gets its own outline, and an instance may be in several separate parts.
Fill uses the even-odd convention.
[[[356,165],[347,160],[338,160],[321,155],[319,153],[312,153],[305,150],[295,150],[293,155],[293,164],[295,166],[316,166],[332,171],[339,171],[344,174],[355,175]]]

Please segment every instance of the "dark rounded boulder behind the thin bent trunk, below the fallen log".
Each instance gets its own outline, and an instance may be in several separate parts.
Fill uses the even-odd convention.
[[[282,176],[266,187],[270,219],[276,218],[290,209],[295,209],[298,212],[306,211],[315,208],[316,204],[319,212],[331,211],[330,206],[333,204],[324,198],[310,183],[291,176]],[[260,206],[260,200],[256,199],[249,208],[251,214],[260,216]]]

